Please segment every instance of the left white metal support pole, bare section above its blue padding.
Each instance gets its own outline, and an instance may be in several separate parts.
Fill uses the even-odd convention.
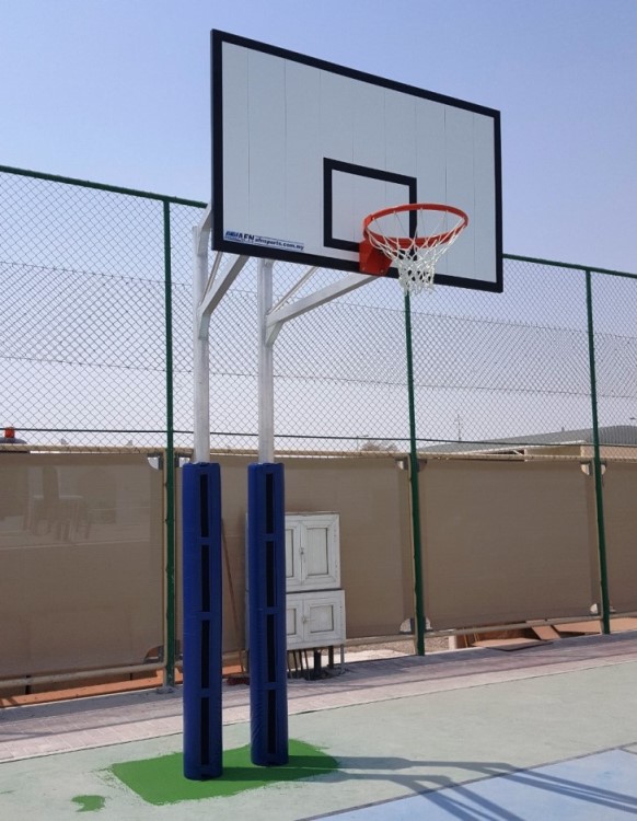
[[[195,394],[195,462],[210,461],[210,365],[207,326],[201,333],[199,305],[208,284],[208,243],[210,231],[200,226],[193,229],[193,373]]]

